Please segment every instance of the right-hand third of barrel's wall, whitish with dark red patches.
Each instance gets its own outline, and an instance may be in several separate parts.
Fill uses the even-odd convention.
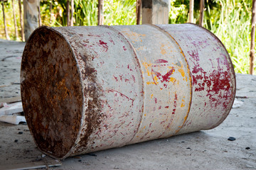
[[[159,28],[175,38],[191,69],[191,111],[178,134],[215,128],[228,116],[235,98],[235,72],[227,50],[213,33],[201,26]]]

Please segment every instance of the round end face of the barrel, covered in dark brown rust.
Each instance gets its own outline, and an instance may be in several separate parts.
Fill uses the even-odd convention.
[[[68,43],[49,28],[39,28],[26,44],[21,97],[38,148],[50,156],[64,157],[80,130],[82,89]]]

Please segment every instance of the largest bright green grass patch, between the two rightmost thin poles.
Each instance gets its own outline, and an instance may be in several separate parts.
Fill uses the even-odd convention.
[[[223,42],[231,57],[235,72],[248,74],[252,1],[216,0],[216,2],[219,8],[206,11],[204,27],[212,31]]]

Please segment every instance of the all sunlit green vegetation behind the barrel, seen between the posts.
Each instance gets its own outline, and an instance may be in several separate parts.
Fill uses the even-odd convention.
[[[18,28],[18,1],[14,0],[14,8]],[[195,0],[194,21],[199,20],[199,1]],[[41,18],[46,26],[66,26],[66,0],[41,1]],[[52,16],[50,17],[50,3]],[[4,3],[6,22],[12,40],[21,40],[14,36],[14,18],[11,0]],[[74,26],[97,26],[97,0],[74,1]],[[233,61],[235,72],[248,74],[250,55],[250,22],[251,0],[206,0],[203,26],[220,38],[227,48]],[[171,0],[169,23],[186,23],[188,21],[189,0]],[[104,1],[105,25],[134,25],[136,24],[136,0]],[[0,38],[4,36],[4,21],[0,9]],[[255,69],[256,72],[256,69]]]

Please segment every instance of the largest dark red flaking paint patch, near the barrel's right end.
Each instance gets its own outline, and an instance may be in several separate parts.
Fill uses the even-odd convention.
[[[218,63],[217,69],[214,69],[213,60],[210,60],[213,71],[208,73],[200,67],[197,51],[188,52],[188,54],[191,55],[190,60],[194,64],[192,69],[192,79],[195,91],[206,91],[206,96],[210,99],[210,106],[223,106],[223,108],[227,108],[228,100],[232,98],[233,94],[230,86],[230,74],[228,74],[228,71],[223,70],[223,67],[230,70],[230,66],[225,55],[223,55],[224,59],[215,59]]]

